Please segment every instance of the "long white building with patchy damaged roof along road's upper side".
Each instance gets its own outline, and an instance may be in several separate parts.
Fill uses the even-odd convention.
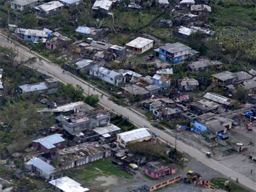
[[[118,86],[125,83],[125,77],[122,75],[122,73],[117,73],[114,70],[109,70],[97,64],[90,68],[90,75],[95,76],[102,81],[108,82],[112,85]]]

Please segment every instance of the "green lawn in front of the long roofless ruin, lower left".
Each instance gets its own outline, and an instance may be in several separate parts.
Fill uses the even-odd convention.
[[[67,176],[80,181],[81,183],[88,184],[93,179],[98,176],[116,176],[118,178],[133,178],[129,173],[124,172],[119,167],[116,167],[111,163],[111,159],[101,159],[99,161],[95,161],[93,163],[87,164],[86,166],[82,166],[75,170],[67,170]]]

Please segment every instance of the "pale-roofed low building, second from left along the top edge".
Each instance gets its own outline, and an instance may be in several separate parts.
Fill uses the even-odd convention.
[[[59,1],[50,1],[50,2],[46,2],[46,4],[42,4],[37,7],[34,7],[34,10],[40,16],[50,16],[60,11],[63,6],[64,5],[61,4],[61,2]]]

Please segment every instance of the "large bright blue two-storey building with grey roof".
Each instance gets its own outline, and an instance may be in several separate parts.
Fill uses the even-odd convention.
[[[180,63],[197,54],[199,54],[198,51],[195,51],[182,43],[167,43],[159,48],[160,60],[172,64]]]

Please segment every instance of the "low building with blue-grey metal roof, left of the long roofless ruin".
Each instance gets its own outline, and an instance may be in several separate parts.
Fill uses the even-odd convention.
[[[36,173],[37,176],[46,179],[51,179],[56,172],[53,166],[37,157],[33,157],[32,159],[30,159],[30,161],[25,163],[25,170],[27,170],[27,172],[32,171]]]

